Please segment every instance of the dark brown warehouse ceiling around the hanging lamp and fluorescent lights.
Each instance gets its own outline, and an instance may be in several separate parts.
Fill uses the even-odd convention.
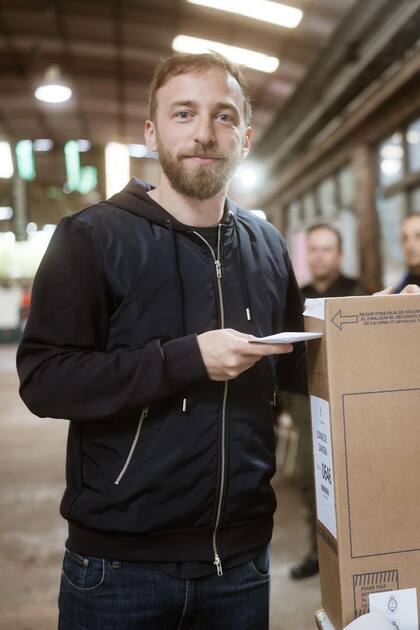
[[[142,142],[153,69],[183,34],[280,59],[272,74],[245,70],[258,143],[281,124],[282,111],[302,90],[355,2],[287,0],[304,12],[298,27],[289,29],[187,0],[2,0],[0,137]],[[348,54],[345,38],[342,47]],[[52,64],[73,89],[67,103],[34,98]]]

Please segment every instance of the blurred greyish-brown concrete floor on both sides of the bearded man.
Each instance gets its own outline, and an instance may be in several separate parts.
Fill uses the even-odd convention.
[[[66,538],[58,504],[67,422],[40,420],[25,408],[15,352],[0,346],[0,630],[53,630]],[[290,565],[306,552],[303,507],[293,484],[278,476],[275,486],[270,630],[314,630],[319,579],[288,578]]]

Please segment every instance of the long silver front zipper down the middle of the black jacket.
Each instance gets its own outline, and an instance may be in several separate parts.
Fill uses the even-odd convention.
[[[221,242],[221,225],[219,223],[219,229],[217,233],[217,258],[213,251],[212,246],[206,241],[206,239],[201,236],[198,232],[193,232],[196,236],[198,236],[203,243],[206,244],[208,249],[210,250],[211,256],[213,258],[214,266],[216,268],[216,279],[217,279],[217,289],[219,293],[219,303],[220,303],[220,326],[221,328],[225,327],[225,310],[223,304],[223,290],[222,290],[222,263],[220,260],[220,242]],[[225,486],[225,474],[226,474],[226,406],[227,406],[227,396],[229,389],[229,381],[224,382],[223,389],[223,403],[222,403],[222,462],[220,469],[220,486],[219,486],[219,499],[217,502],[217,513],[216,513],[216,522],[213,528],[213,553],[214,553],[214,565],[216,566],[217,575],[223,575],[222,561],[219,556],[219,550],[217,547],[217,531],[220,525],[220,518],[222,514],[222,504],[223,504],[223,495],[224,495],[224,486]]]

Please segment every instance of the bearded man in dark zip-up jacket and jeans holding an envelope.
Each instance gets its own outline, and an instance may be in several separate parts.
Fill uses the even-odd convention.
[[[227,199],[251,145],[239,69],[157,68],[156,188],[63,219],[35,279],[20,393],[69,418],[61,630],[264,630],[276,388],[305,392],[285,242]]]

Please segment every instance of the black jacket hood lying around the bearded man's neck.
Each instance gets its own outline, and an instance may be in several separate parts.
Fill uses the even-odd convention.
[[[152,186],[137,177],[132,177],[127,186],[125,186],[125,188],[123,188],[119,193],[110,197],[106,203],[116,206],[122,210],[126,210],[131,214],[136,214],[139,217],[148,219],[153,223],[167,225],[168,227],[171,226],[173,229],[178,231],[190,231],[191,226],[178,221],[172,214],[170,214],[147,194],[149,190],[153,190],[154,188],[155,186]],[[229,224],[232,219],[232,215],[236,214],[236,211],[236,205],[230,199],[227,199],[222,223]]]

